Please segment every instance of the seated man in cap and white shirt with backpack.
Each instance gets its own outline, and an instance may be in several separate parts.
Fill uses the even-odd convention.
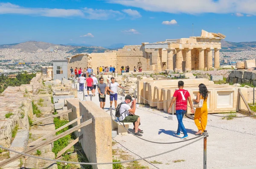
[[[131,122],[134,124],[134,135],[142,136],[143,130],[139,129],[140,125],[140,116],[135,115],[136,110],[136,100],[132,99],[130,95],[125,96],[125,101],[122,102],[120,107],[120,117],[119,121],[128,123]],[[129,105],[131,103],[131,106]]]

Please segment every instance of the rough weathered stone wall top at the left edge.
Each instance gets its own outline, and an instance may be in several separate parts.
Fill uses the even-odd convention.
[[[30,85],[7,87],[0,96],[0,143],[10,146],[12,143],[12,131],[15,126],[23,130],[29,130],[29,118],[33,118],[31,96],[38,91],[39,78],[37,73],[30,81]],[[6,118],[7,113],[12,113]]]

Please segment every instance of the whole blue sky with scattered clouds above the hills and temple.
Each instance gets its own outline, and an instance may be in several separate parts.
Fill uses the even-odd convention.
[[[200,36],[256,41],[256,0],[1,0],[0,44],[139,45]]]

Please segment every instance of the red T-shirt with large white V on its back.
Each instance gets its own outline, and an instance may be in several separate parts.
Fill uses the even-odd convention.
[[[187,99],[190,97],[188,90],[179,89],[173,94],[176,97],[176,107],[175,110],[186,110],[187,109]]]

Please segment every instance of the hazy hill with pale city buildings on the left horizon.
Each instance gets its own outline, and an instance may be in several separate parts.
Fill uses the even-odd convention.
[[[66,59],[79,53],[100,53],[106,50],[109,49],[99,46],[56,45],[47,42],[28,41],[0,45],[0,59],[45,63],[52,59]]]

